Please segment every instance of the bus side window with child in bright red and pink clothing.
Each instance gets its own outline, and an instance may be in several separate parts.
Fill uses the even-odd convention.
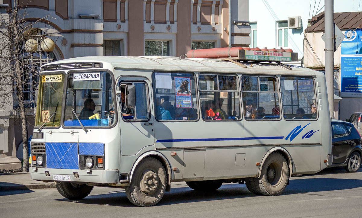
[[[236,76],[199,75],[203,120],[240,120]]]

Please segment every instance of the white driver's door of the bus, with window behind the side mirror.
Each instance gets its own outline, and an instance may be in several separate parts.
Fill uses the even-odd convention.
[[[124,101],[126,85],[134,85],[135,108],[127,108]],[[155,144],[154,118],[151,116],[150,82],[144,77],[121,77],[118,81],[121,154],[135,155],[142,148]],[[123,92],[123,93],[122,93]]]

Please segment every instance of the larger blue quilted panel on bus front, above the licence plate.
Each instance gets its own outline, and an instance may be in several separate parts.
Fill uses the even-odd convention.
[[[55,169],[79,169],[78,144],[46,142],[46,167]]]

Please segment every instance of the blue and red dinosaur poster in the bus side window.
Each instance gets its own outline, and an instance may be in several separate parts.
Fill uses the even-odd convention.
[[[190,77],[175,77],[176,108],[192,108]]]

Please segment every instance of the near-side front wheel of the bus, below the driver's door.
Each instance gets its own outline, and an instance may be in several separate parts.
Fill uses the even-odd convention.
[[[165,193],[166,178],[165,168],[158,160],[143,159],[134,171],[131,185],[125,187],[127,198],[136,206],[157,204]]]

